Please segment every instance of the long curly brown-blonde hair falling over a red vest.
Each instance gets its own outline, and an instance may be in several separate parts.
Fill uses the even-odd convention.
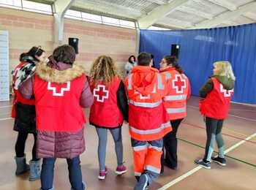
[[[110,56],[99,56],[92,64],[90,70],[92,85],[97,85],[100,81],[108,85],[115,77],[120,77],[120,75],[113,58],[110,58]]]

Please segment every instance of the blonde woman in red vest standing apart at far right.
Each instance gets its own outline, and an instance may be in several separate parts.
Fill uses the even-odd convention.
[[[211,169],[211,159],[225,166],[224,141],[222,139],[222,125],[233,96],[235,76],[230,62],[217,61],[214,63],[214,75],[200,89],[203,97],[199,104],[200,113],[206,117],[206,153],[203,159],[195,160],[195,163],[206,169]],[[219,155],[211,157],[214,152],[214,143],[217,142]]]

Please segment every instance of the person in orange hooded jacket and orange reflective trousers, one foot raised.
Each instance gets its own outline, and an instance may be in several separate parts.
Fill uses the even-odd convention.
[[[135,190],[146,189],[161,170],[162,137],[172,130],[163,104],[165,77],[151,68],[151,55],[140,53],[138,66],[125,80],[129,98],[129,133],[132,138]]]

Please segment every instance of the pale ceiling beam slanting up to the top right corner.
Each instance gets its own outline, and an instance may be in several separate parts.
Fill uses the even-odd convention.
[[[245,12],[250,12],[252,10],[256,9],[256,2],[252,2],[249,4],[246,4],[244,6],[238,7],[238,9],[234,11],[227,11],[220,15],[217,15],[216,17],[212,18],[211,20],[204,20],[203,22],[195,24],[195,26],[189,27],[189,28],[212,28],[215,26],[218,26],[219,23],[225,23],[227,20],[234,20],[241,15],[244,15]]]

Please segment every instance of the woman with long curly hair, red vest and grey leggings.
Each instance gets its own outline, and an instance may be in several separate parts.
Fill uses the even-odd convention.
[[[121,126],[128,121],[128,103],[124,83],[118,75],[116,65],[109,56],[99,56],[91,66],[90,86],[94,104],[90,110],[90,124],[95,126],[98,138],[99,180],[107,174],[105,155],[108,129],[113,136],[116,149],[116,174],[127,172],[123,164],[123,142]]]

